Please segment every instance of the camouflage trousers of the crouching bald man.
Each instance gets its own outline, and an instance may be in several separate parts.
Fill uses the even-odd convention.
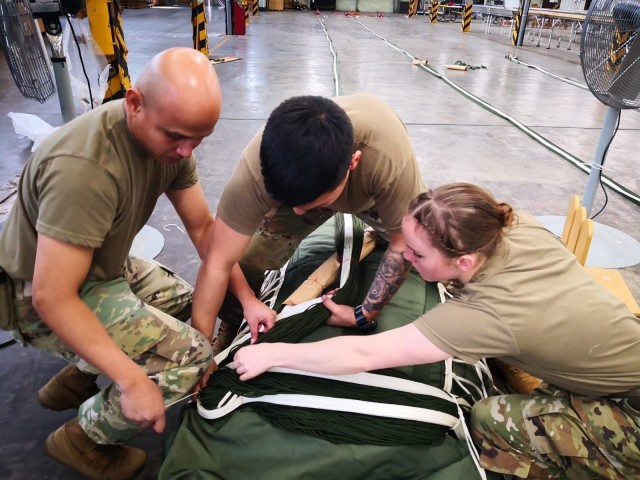
[[[23,345],[59,355],[82,371],[99,373],[39,318],[28,290],[28,284],[16,282],[14,337]],[[174,318],[189,318],[192,287],[159,263],[129,257],[122,277],[87,282],[79,295],[111,339],[160,387],[165,404],[188,394],[211,363],[207,339]],[[94,441],[120,443],[140,432],[122,414],[120,397],[119,387],[112,383],[78,409],[80,425]]]

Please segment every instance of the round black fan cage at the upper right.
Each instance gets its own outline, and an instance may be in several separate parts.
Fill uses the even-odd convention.
[[[614,108],[640,107],[640,0],[594,0],[580,61],[598,100]]]

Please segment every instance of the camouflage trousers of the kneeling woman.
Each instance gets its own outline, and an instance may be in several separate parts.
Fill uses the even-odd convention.
[[[543,385],[531,395],[476,403],[471,433],[482,467],[493,472],[518,478],[640,478],[636,401],[586,398]]]

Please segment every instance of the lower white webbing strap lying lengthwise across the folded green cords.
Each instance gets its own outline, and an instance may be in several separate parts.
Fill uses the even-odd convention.
[[[233,410],[249,403],[270,403],[289,407],[315,408],[319,410],[332,410],[336,412],[349,412],[375,417],[396,418],[399,420],[412,420],[422,423],[433,423],[455,429],[460,419],[437,410],[427,408],[410,407],[407,405],[394,405],[391,403],[367,402],[365,400],[351,400],[346,398],[334,398],[318,395],[300,394],[276,394],[263,395],[261,397],[243,397],[241,395],[226,395],[218,404],[218,407],[208,410],[198,400],[198,413],[209,420],[223,417]]]

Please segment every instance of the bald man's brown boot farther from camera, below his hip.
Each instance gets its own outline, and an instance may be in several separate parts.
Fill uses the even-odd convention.
[[[58,412],[78,408],[100,391],[96,378],[97,375],[85,373],[70,363],[38,390],[38,403]]]

